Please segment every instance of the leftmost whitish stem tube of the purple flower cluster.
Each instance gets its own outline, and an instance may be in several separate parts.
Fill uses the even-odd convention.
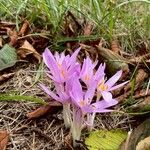
[[[70,104],[66,103],[63,104],[63,119],[66,128],[70,128],[71,126],[71,110]]]

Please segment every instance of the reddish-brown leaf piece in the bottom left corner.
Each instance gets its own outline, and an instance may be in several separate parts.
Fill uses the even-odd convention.
[[[0,150],[6,150],[9,134],[7,131],[0,131]]]

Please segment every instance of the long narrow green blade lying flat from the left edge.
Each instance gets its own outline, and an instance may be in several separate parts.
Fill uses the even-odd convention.
[[[38,104],[43,104],[43,105],[47,104],[41,98],[37,98],[33,96],[25,96],[25,95],[0,94],[0,101],[17,101],[17,102],[26,101],[26,102],[34,102]]]

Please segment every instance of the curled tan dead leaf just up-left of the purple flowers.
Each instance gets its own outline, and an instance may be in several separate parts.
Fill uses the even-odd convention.
[[[17,52],[20,57],[26,58],[27,55],[33,54],[33,56],[38,60],[38,62],[41,62],[41,55],[34,49],[34,47],[25,40],[23,45],[18,49]]]

